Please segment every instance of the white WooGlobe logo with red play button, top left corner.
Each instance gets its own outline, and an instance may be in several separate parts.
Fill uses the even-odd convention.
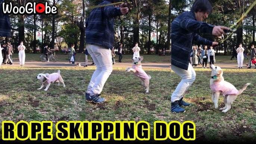
[[[2,12],[4,14],[13,14],[13,15],[32,15],[32,14],[45,14],[45,15],[57,15],[58,8],[56,6],[49,6],[49,3],[46,1],[43,3],[36,2],[27,2],[25,6],[14,6],[11,3],[2,3]]]

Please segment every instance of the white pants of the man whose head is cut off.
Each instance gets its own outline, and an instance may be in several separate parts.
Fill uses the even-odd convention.
[[[97,44],[86,44],[88,53],[93,58],[93,62],[96,65],[96,70],[91,77],[90,84],[87,88],[87,93],[90,96],[94,94],[100,94],[103,86],[109,78],[109,75],[113,71],[112,59],[110,57],[111,50],[99,46]]]

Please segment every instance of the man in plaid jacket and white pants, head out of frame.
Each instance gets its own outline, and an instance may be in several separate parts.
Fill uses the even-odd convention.
[[[85,93],[87,102],[100,104],[106,101],[100,95],[113,71],[110,55],[114,43],[114,18],[129,11],[124,3],[118,7],[118,2],[120,0],[103,0],[99,7],[91,10],[90,16],[85,20],[86,48],[96,65],[96,71]]]

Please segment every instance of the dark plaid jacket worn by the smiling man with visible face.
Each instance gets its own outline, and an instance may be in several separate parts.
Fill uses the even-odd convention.
[[[192,52],[194,41],[207,46],[212,46],[212,41],[200,37],[197,33],[212,34],[213,25],[196,20],[193,11],[184,12],[172,22],[172,65],[188,70],[188,60]]]

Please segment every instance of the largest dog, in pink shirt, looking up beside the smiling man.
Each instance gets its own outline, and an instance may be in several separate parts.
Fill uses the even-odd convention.
[[[218,109],[219,95],[224,95],[225,107],[219,109],[222,112],[227,112],[231,109],[231,104],[237,99],[237,96],[246,90],[249,83],[245,84],[239,91],[234,85],[224,80],[223,71],[219,66],[210,65],[212,71],[210,79],[210,89],[212,90],[212,101],[215,104],[215,109]]]

